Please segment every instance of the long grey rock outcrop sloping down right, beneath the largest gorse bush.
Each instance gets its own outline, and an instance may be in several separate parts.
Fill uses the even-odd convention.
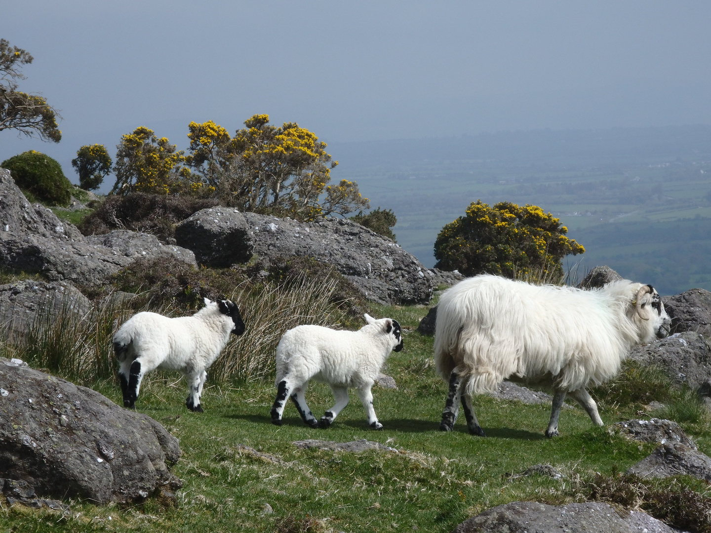
[[[335,266],[371,301],[412,304],[429,303],[432,298],[434,274],[431,271],[395,242],[350,220],[296,222],[225,208],[203,209],[188,220],[176,229],[176,242],[195,245],[191,244],[195,239],[183,240],[188,227],[191,232],[202,228],[200,235],[203,236],[215,235],[217,244],[213,246],[213,241],[205,240],[197,252],[201,257],[209,257],[211,264],[228,264],[233,259],[233,249],[240,250],[238,255],[253,249],[262,258],[313,257]],[[246,236],[243,221],[249,228]],[[220,232],[220,225],[234,230]],[[238,242],[239,239],[244,241]],[[224,244],[228,242],[229,246]]]

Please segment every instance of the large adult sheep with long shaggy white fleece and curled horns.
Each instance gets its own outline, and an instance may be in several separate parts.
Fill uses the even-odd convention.
[[[602,426],[585,388],[614,377],[634,345],[664,338],[670,325],[657,291],[626,279],[590,291],[491,275],[460,281],[437,307],[434,362],[449,382],[439,429],[452,429],[461,399],[469,433],[485,436],[471,394],[506,378],[552,387],[545,436],[558,434],[567,394]]]

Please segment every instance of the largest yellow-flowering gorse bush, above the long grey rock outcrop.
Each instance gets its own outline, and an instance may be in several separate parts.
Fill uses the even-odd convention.
[[[338,161],[316,134],[294,122],[272,126],[266,114],[245,126],[232,139],[212,121],[188,126],[186,162],[225,203],[302,220],[368,208],[355,182],[328,185]]]

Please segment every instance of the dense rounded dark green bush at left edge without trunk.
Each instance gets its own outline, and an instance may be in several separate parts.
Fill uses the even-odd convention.
[[[64,176],[62,167],[50,156],[30,150],[12,156],[0,166],[8,168],[21,190],[50,205],[68,205],[73,185]]]

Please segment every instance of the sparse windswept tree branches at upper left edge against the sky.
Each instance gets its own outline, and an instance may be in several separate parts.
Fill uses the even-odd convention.
[[[16,80],[25,79],[20,68],[32,61],[25,50],[0,39],[0,131],[16,129],[26,136],[59,142],[62,132],[57,126],[57,110],[44,97],[17,90]]]

